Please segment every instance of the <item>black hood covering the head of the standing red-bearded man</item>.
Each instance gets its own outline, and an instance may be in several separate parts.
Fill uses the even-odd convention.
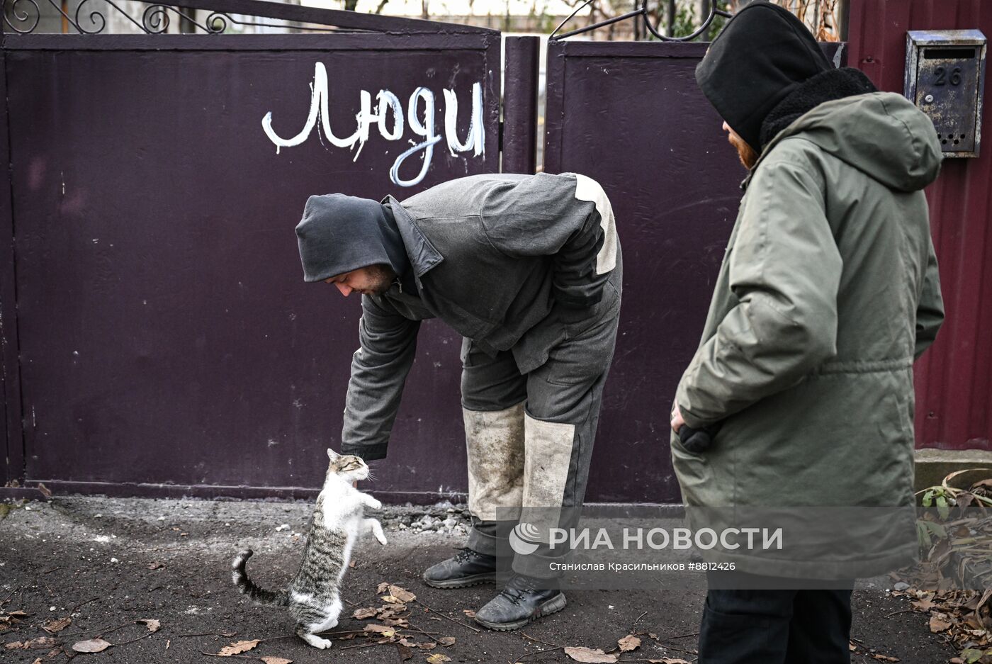
[[[741,9],[713,40],[695,80],[716,111],[761,151],[761,123],[797,85],[833,68],[803,23],[769,2]]]

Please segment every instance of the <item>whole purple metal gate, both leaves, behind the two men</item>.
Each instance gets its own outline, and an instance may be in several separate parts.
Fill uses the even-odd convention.
[[[310,492],[338,444],[359,306],[302,282],[306,197],[533,168],[534,38],[507,40],[501,137],[498,33],[270,5],[209,3],[366,32],[4,37],[3,479]],[[695,85],[704,52],[549,46],[545,169],[603,185],[626,268],[589,501],[679,500],[669,405],[744,176]],[[458,339],[421,334],[374,485],[393,500],[467,483]]]

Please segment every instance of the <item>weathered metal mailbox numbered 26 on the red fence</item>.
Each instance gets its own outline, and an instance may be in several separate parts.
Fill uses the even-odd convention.
[[[930,116],[944,157],[977,157],[985,88],[980,30],[913,30],[904,94]]]

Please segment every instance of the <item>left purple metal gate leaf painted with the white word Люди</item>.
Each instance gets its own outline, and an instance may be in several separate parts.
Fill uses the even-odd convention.
[[[4,479],[317,486],[360,307],[304,284],[304,202],[498,170],[498,32],[209,7],[375,32],[3,37]],[[376,488],[464,489],[457,341],[422,332]]]

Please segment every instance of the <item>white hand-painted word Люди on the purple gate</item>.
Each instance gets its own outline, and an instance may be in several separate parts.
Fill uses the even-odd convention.
[[[472,84],[472,113],[465,140],[458,138],[458,97],[454,90],[443,89],[444,96],[444,135],[448,152],[451,156],[458,153],[471,152],[473,157],[485,155],[485,123],[482,118],[482,83]],[[413,146],[403,152],[393,167],[389,170],[389,178],[399,187],[414,187],[424,181],[431,162],[434,159],[434,145],[440,141],[441,135],[434,131],[434,92],[427,87],[418,87],[410,95],[407,102],[407,112],[404,113],[403,102],[396,94],[387,89],[379,90],[375,96],[376,109],[372,110],[372,94],[361,90],[359,109],[355,115],[355,131],[346,138],[338,138],[331,131],[330,116],[327,106],[330,103],[330,90],[327,85],[327,69],[322,63],[313,66],[313,80],[310,82],[310,112],[304,128],[292,138],[283,138],[272,128],[272,111],[262,118],[262,129],[269,140],[276,146],[276,154],[283,148],[292,148],[302,144],[310,137],[310,133],[319,122],[320,132],[336,148],[354,150],[352,161],[357,161],[362,148],[369,139],[369,129],[376,124],[379,135],[387,141],[402,140],[406,127],[410,128],[418,139],[411,140]],[[423,111],[421,111],[423,107]],[[392,119],[392,122],[390,122]],[[357,149],[355,149],[357,146]],[[413,178],[405,179],[400,175],[404,162],[414,155],[422,153],[423,162],[420,171]]]

